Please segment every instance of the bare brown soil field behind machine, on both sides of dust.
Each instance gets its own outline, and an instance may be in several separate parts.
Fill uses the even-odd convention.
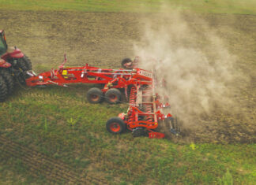
[[[134,57],[133,44],[140,42],[144,24],[140,13],[77,13],[1,11],[0,28],[6,30],[9,46],[18,46],[31,60],[36,72],[56,68],[63,54],[68,65],[120,68],[124,57]],[[216,110],[204,118],[205,124],[186,129],[181,142],[256,142],[256,16],[201,14],[215,30],[231,54],[238,57],[239,68],[249,82],[237,82],[234,97],[239,113]],[[190,15],[184,19],[200,34],[201,25]],[[153,20],[157,24],[157,20]],[[203,125],[203,126],[202,126]]]

